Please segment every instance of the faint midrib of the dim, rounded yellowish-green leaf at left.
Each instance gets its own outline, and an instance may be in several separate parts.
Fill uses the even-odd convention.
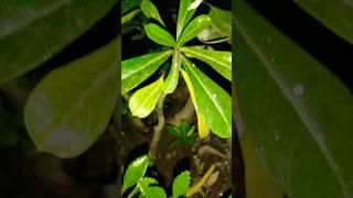
[[[69,108],[68,108],[67,111],[66,111],[67,113],[65,113],[65,114],[63,114],[62,117],[60,117],[60,118],[57,119],[57,121],[54,122],[49,130],[46,130],[46,131],[50,131],[50,133],[46,133],[47,135],[45,135],[42,140],[46,140],[46,138],[52,134],[51,132],[52,132],[57,125],[62,124],[63,122],[65,122],[65,121],[69,118],[69,116],[72,114],[72,112],[82,103],[82,101],[84,101],[84,100],[89,96],[89,94],[90,94],[93,90],[95,90],[96,87],[97,87],[98,85],[100,85],[100,82],[101,82],[107,76],[110,75],[111,68],[116,67],[116,63],[117,63],[117,62],[115,62],[114,64],[111,64],[111,66],[108,67],[107,70],[104,72],[104,73],[101,74],[101,76],[100,76],[99,78],[97,78],[97,79],[87,88],[87,90],[84,91],[84,92],[77,98],[76,102],[74,102],[72,106],[69,106]],[[68,138],[67,138],[67,140],[68,140]]]

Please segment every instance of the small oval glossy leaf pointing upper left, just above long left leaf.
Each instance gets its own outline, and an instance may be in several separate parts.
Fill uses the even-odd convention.
[[[158,24],[149,23],[145,25],[146,34],[153,42],[164,46],[175,46],[174,37]]]

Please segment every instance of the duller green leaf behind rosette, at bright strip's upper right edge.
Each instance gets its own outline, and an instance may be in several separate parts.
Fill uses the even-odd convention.
[[[212,19],[212,28],[224,36],[232,36],[232,12],[210,7],[210,18]]]

